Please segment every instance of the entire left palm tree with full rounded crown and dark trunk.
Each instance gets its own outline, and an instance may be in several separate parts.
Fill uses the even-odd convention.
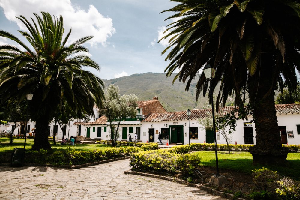
[[[17,17],[29,32],[19,31],[31,48],[14,35],[0,31],[0,36],[9,38],[21,46],[0,46],[0,94],[1,102],[24,100],[32,93],[29,103],[32,120],[36,121],[36,136],[33,149],[49,149],[48,123],[52,121],[58,106],[64,102],[74,111],[85,111],[93,116],[93,107],[101,106],[104,85],[93,73],[83,67],[100,70],[95,61],[86,54],[83,43],[92,37],[83,37],[67,45],[71,30],[63,40],[63,18],[52,19],[49,13],[35,14],[30,23],[24,16]]]

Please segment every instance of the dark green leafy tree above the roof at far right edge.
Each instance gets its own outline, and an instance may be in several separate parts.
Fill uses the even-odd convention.
[[[297,85],[297,90],[283,89],[281,93],[276,97],[276,104],[290,104],[300,102],[300,85]]]

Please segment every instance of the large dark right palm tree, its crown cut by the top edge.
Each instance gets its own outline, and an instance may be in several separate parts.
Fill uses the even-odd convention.
[[[250,150],[253,162],[286,161],[288,150],[282,148],[278,134],[274,90],[283,88],[284,82],[292,90],[297,85],[300,4],[285,0],[171,1],[179,4],[163,11],[175,12],[168,19],[177,19],[162,38],[170,38],[162,52],[169,52],[167,76],[179,69],[174,81],[186,82],[186,90],[198,78],[196,98],[220,84],[217,106],[225,106],[232,95],[240,108],[248,100],[257,134]],[[201,70],[205,64],[216,70],[211,86]]]

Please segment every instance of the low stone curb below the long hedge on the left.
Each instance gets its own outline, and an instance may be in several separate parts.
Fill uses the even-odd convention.
[[[109,160],[102,160],[95,163],[85,163],[82,165],[52,165],[52,164],[36,164],[36,163],[25,163],[24,166],[27,167],[56,167],[56,168],[65,168],[65,169],[79,169],[82,167],[88,167],[93,165],[100,165],[104,163],[110,163],[118,160],[125,160],[129,159],[130,156],[122,157],[122,158],[115,158],[115,159],[109,159]],[[10,163],[1,163],[0,166],[10,166]]]

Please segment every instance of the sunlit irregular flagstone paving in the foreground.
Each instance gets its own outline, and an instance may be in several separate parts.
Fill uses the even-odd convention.
[[[124,175],[129,160],[81,169],[0,167],[0,199],[223,199],[198,188]]]

